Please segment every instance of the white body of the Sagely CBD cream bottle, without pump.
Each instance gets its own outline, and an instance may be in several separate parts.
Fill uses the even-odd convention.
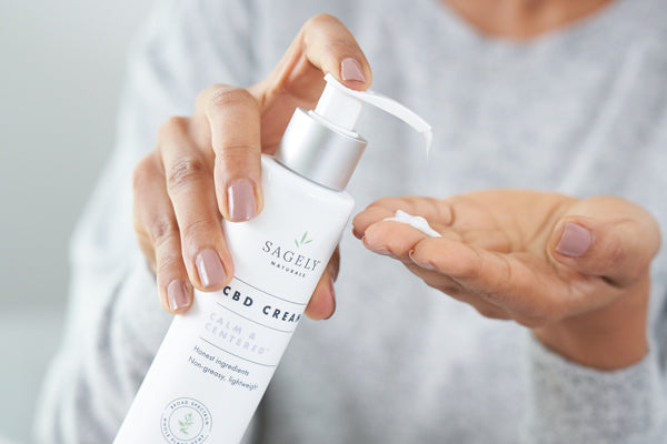
[[[262,212],[223,223],[233,279],[176,316],[116,444],[242,438],[354,205],[266,155],[262,183]]]

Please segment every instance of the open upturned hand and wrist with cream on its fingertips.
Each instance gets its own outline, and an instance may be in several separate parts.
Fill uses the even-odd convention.
[[[395,221],[424,216],[441,238]],[[371,251],[482,315],[515,320],[583,365],[614,370],[647,352],[656,221],[614,196],[491,190],[445,200],[387,198],[354,221]]]

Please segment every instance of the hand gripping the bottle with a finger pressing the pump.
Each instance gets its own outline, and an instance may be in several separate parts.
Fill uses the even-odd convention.
[[[193,287],[216,291],[231,280],[221,218],[246,221],[261,211],[260,154],[276,150],[297,107],[316,104],[325,73],[356,90],[371,81],[352,34],[317,16],[267,79],[247,90],[215,84],[199,94],[193,115],[160,127],[156,149],[135,169],[133,223],[168,312],[187,311]],[[336,254],[306,309],[310,317],[334,313],[337,273]]]

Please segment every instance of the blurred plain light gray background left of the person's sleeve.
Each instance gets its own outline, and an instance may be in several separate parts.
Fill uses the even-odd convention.
[[[0,2],[0,443],[30,442],[69,238],[112,147],[128,46],[150,3]]]

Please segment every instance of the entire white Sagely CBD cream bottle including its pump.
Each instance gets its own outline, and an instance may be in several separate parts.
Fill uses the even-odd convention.
[[[116,444],[240,442],[350,216],[344,190],[366,148],[354,130],[364,103],[410,124],[428,148],[417,114],[325,79],[315,111],[297,109],[275,158],[262,155],[262,212],[223,222],[233,279],[196,292],[175,317]]]

